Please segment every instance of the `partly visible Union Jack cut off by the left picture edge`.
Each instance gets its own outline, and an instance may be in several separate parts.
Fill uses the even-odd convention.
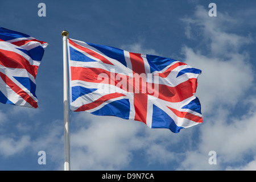
[[[0,27],[0,102],[38,107],[36,73],[46,42]]]

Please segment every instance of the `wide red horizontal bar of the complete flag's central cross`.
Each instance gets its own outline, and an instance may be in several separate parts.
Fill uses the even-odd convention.
[[[99,76],[101,73],[104,73],[106,77],[102,78]],[[71,80],[81,80],[86,82],[94,82],[94,83],[104,83],[104,84],[112,84],[110,82],[110,75],[113,73],[110,73],[106,71],[105,69],[100,68],[82,68],[82,67],[71,67]],[[116,76],[116,75],[115,75]],[[131,91],[129,89],[129,86],[131,86],[131,82],[129,81],[129,77],[126,79],[127,81],[127,88],[122,88],[125,91]],[[119,81],[115,80],[113,84],[117,85]],[[138,85],[136,81],[133,81],[133,91],[135,87],[138,90]],[[145,85],[145,83],[142,83],[142,85]],[[146,83],[148,84],[148,83]],[[119,86],[118,86],[119,87]],[[150,86],[151,87],[151,86]],[[168,102],[181,102],[191,96],[193,96],[193,93],[196,92],[197,87],[197,79],[196,78],[190,78],[187,81],[181,82],[181,84],[176,86],[167,86],[162,84],[154,84],[153,89],[148,89],[147,86],[147,92],[142,92],[142,86],[139,86],[139,93],[134,93],[134,97],[138,97],[137,100],[140,99],[140,96],[142,94],[148,94],[151,96],[156,96],[157,98],[160,98],[162,100],[168,101]],[[150,92],[150,93],[149,93]],[[144,97],[142,96],[142,99]],[[144,102],[144,101],[143,101]],[[146,103],[146,102],[145,102]]]

